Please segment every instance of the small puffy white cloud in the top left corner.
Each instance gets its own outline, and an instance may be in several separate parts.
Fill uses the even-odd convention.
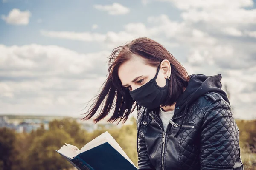
[[[30,11],[20,11],[19,9],[12,9],[8,16],[2,15],[1,18],[6,21],[6,23],[13,25],[28,25],[29,18],[31,17]]]

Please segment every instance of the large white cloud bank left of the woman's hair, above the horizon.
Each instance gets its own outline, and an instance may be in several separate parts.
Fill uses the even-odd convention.
[[[105,81],[110,54],[80,54],[59,46],[36,44],[0,45],[0,51],[1,113],[70,116],[79,116]]]

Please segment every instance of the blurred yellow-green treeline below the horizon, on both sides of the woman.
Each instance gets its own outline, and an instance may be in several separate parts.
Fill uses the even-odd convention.
[[[87,132],[75,120],[53,120],[49,130],[43,126],[31,133],[16,133],[0,128],[0,170],[70,170],[72,165],[55,150],[64,143],[81,148],[106,130],[116,139],[125,153],[137,165],[136,120],[121,128],[99,127]],[[241,158],[245,170],[256,170],[256,120],[237,120],[240,130]]]

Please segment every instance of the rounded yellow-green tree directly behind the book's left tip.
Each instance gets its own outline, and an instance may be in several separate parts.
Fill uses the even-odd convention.
[[[63,129],[49,130],[36,137],[26,157],[27,170],[60,170],[72,167],[55,151],[64,143],[74,144],[74,140]]]

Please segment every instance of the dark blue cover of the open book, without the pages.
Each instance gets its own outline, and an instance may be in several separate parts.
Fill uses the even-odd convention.
[[[76,165],[79,162],[79,168],[82,170],[137,170],[137,167],[125,159],[108,142],[79,153],[70,161]]]

